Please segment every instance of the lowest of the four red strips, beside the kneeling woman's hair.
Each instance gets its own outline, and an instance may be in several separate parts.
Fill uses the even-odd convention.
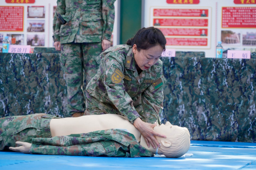
[[[207,38],[166,38],[167,46],[207,46]]]

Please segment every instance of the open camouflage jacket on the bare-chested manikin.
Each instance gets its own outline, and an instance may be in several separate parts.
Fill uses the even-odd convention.
[[[119,129],[51,138],[33,138],[30,153],[94,157],[151,157],[154,155],[141,146],[133,134]]]

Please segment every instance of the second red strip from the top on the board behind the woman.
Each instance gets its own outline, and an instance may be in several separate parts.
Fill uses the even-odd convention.
[[[195,26],[207,27],[208,19],[154,18],[154,26]]]

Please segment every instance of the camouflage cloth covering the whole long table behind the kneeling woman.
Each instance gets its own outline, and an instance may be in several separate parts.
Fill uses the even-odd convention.
[[[187,127],[192,140],[256,142],[256,59],[161,60],[162,122]],[[0,53],[0,63],[0,117],[67,115],[59,54]]]

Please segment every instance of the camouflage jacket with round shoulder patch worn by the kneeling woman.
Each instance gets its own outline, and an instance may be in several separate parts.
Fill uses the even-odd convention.
[[[119,114],[134,122],[160,122],[163,108],[161,60],[138,74],[132,46],[118,45],[101,53],[100,68],[86,87],[86,100],[104,113]]]

